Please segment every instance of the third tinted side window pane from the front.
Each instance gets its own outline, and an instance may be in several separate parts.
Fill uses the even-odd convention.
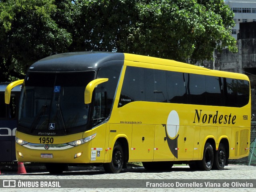
[[[187,103],[184,73],[166,71],[168,102]]]

